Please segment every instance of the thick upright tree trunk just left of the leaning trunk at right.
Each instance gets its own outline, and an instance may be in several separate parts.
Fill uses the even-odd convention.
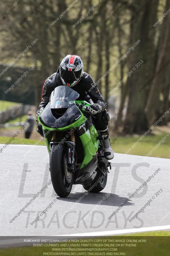
[[[141,3],[142,2],[142,3]],[[144,1],[136,3],[133,1],[136,11],[139,7],[144,5]],[[128,66],[131,74],[129,74],[129,99],[128,108],[125,119],[125,127],[129,133],[140,133],[146,131],[149,128],[146,114],[144,111],[148,88],[146,87],[141,92],[141,87],[146,83],[153,74],[154,69],[154,57],[155,57],[155,29],[153,27],[155,20],[155,13],[157,13],[159,0],[155,0],[154,3],[150,2],[147,8],[136,17],[135,21],[130,23],[130,47],[138,40],[140,43],[129,53]],[[134,12],[134,11],[133,11]],[[137,63],[142,62],[139,68],[135,66]]]

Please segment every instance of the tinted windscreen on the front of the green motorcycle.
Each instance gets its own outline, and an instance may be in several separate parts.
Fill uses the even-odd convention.
[[[50,108],[68,108],[79,97],[78,92],[68,86],[58,86],[51,93]]]

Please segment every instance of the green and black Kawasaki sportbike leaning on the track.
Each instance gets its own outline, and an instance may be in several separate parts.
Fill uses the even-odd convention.
[[[90,104],[76,100],[78,97],[70,87],[58,86],[38,117],[50,156],[53,188],[60,197],[68,196],[73,184],[100,192],[106,186],[108,167],[111,169],[102,149],[103,136],[87,111]]]

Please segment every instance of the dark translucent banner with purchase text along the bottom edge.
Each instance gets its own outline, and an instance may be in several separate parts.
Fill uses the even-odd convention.
[[[1,236],[0,255],[169,256],[170,236]]]

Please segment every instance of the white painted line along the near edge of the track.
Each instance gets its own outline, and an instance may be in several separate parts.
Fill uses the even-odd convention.
[[[130,229],[122,229],[122,230],[111,230],[111,231],[100,231],[100,232],[89,232],[82,234],[69,234],[69,235],[61,235],[61,236],[112,236],[112,235],[122,235],[129,233],[139,233],[139,232],[147,232],[147,231],[158,231],[170,229],[170,225],[166,226],[156,226],[156,227],[148,227],[148,228],[130,228]]]

